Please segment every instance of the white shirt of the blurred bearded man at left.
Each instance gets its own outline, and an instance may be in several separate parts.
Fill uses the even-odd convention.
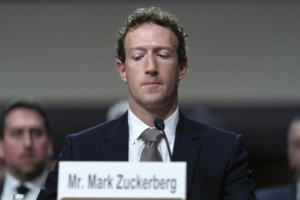
[[[29,191],[25,195],[26,200],[35,200],[41,190],[41,187],[45,185],[48,172],[43,171],[41,175],[32,181],[22,182],[22,185],[27,187]],[[5,172],[4,185],[1,194],[1,200],[12,200],[13,195],[17,194],[17,188],[21,186],[21,181],[13,177],[10,173]]]

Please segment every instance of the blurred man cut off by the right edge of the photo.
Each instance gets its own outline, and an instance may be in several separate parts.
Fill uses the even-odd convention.
[[[287,160],[289,168],[295,172],[295,181],[257,189],[258,200],[300,200],[300,115],[292,119],[287,132]]]

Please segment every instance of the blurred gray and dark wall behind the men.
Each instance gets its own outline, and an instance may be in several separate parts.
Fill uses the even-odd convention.
[[[0,108],[41,98],[57,157],[67,134],[103,123],[127,98],[116,34],[149,6],[175,14],[189,36],[183,113],[242,134],[257,187],[291,181],[285,137],[300,113],[299,1],[1,1]]]

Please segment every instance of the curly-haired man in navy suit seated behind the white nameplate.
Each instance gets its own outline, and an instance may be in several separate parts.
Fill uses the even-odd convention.
[[[59,160],[142,161],[141,135],[165,122],[173,161],[187,162],[187,199],[256,199],[242,137],[186,118],[178,109],[178,82],[187,72],[187,34],[159,8],[140,8],[119,30],[117,69],[128,86],[129,109],[120,118],[68,135]],[[161,134],[161,133],[158,133]],[[159,156],[169,162],[164,139]],[[58,165],[39,200],[56,199]]]

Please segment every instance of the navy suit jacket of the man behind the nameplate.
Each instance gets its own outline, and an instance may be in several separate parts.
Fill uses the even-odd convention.
[[[128,112],[120,118],[68,135],[59,161],[128,161]],[[173,161],[187,162],[187,199],[254,200],[242,136],[185,117],[179,111]],[[38,200],[57,195],[58,164]]]

